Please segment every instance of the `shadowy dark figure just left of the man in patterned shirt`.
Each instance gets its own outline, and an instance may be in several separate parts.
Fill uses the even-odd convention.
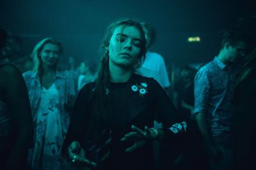
[[[177,103],[177,110],[180,112],[184,120],[189,122],[191,136],[188,145],[180,153],[176,148],[172,148],[173,152],[180,153],[175,158],[175,169],[202,169],[209,168],[207,159],[205,159],[205,150],[202,136],[200,135],[198,125],[196,124],[194,112],[194,78],[196,69],[186,65],[180,67],[180,80],[174,83],[173,102]]]

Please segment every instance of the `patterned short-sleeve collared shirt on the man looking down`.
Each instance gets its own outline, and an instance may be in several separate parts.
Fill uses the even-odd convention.
[[[232,98],[239,70],[239,66],[226,66],[215,57],[196,73],[194,113],[206,114],[214,144],[229,147],[232,143]]]

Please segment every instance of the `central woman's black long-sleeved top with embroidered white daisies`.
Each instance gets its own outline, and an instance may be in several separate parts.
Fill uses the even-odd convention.
[[[67,138],[63,144],[63,153],[72,141],[79,141],[86,148],[86,118],[90,114],[90,97],[94,83],[84,85],[79,92],[74,106],[73,115],[68,129]],[[154,169],[152,142],[132,153],[125,153],[125,149],[132,146],[132,141],[121,142],[124,134],[131,132],[131,125],[144,129],[153,127],[155,114],[166,127],[164,140],[176,145],[186,134],[186,122],[182,122],[179,113],[173,106],[163,88],[153,78],[146,78],[132,74],[127,83],[111,83],[111,155],[106,169]],[[89,112],[89,113],[88,113]],[[175,124],[173,126],[173,124]]]

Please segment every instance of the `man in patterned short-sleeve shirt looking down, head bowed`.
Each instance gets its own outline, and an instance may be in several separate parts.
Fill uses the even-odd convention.
[[[194,114],[214,170],[232,167],[232,93],[245,55],[246,41],[243,31],[226,31],[218,56],[195,76]]]

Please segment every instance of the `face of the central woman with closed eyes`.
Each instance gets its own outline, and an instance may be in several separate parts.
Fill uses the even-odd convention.
[[[109,66],[131,68],[141,52],[141,34],[134,26],[116,27],[109,41]]]

